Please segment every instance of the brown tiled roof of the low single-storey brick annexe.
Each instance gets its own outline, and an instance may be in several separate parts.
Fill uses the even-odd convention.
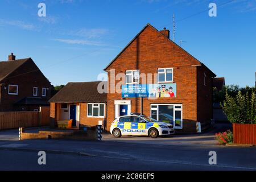
[[[55,103],[104,103],[107,100],[106,93],[98,92],[98,84],[101,81],[94,82],[69,82],[61,89],[49,102]],[[104,82],[107,83],[107,82]]]

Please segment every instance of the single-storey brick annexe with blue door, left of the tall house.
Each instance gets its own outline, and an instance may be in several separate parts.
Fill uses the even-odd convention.
[[[98,92],[100,82],[69,82],[53,96],[51,126],[72,119],[72,127],[96,126],[106,121],[106,93]],[[106,125],[105,125],[106,126]]]

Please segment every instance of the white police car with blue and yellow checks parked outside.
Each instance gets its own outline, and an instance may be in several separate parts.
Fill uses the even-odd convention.
[[[174,126],[159,122],[141,114],[131,114],[116,118],[110,127],[110,133],[119,138],[122,135],[144,135],[157,138],[174,134]]]

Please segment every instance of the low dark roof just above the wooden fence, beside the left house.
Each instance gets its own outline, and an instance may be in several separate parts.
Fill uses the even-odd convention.
[[[49,102],[42,97],[24,97],[22,100],[15,102],[15,105],[40,105],[48,106]]]

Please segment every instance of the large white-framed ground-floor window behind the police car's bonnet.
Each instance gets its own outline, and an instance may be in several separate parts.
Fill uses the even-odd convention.
[[[157,121],[171,123],[175,129],[183,129],[181,104],[151,104],[150,116]]]

